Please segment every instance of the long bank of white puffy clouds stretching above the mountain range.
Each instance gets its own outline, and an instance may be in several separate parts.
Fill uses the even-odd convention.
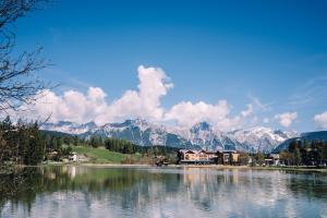
[[[95,121],[97,124],[123,121],[125,119],[143,118],[152,121],[174,121],[180,126],[190,128],[195,123],[207,121],[218,130],[229,131],[242,128],[246,121],[253,124],[257,118],[253,105],[232,116],[227,100],[217,104],[204,101],[181,101],[165,110],[161,98],[173,87],[169,77],[159,68],[137,69],[137,89],[129,89],[123,95],[109,102],[106,93],[99,87],[89,87],[87,93],[68,90],[57,95],[46,90],[45,97],[34,106],[23,106],[29,119],[45,119],[51,122],[69,120],[77,123]]]

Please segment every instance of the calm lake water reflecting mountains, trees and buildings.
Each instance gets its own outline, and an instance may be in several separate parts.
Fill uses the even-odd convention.
[[[327,217],[320,173],[152,167],[28,169],[2,217]]]

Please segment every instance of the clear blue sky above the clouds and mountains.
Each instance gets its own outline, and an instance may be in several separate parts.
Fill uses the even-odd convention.
[[[174,86],[164,110],[226,99],[230,117],[251,104],[256,124],[301,132],[325,126],[314,116],[327,111],[326,27],[326,1],[70,0],[15,28],[20,49],[44,46],[55,65],[40,75],[58,96],[100,87],[110,102],[137,89],[140,65],[156,66]]]

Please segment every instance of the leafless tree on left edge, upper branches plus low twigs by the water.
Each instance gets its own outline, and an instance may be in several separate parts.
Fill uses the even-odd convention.
[[[15,22],[28,13],[44,9],[48,0],[0,0],[0,112],[19,110],[23,104],[33,104],[41,97],[49,84],[36,73],[49,63],[39,57],[41,48],[19,52],[15,49]],[[9,144],[0,130],[0,210],[24,182],[25,172],[16,172],[11,160],[17,158],[16,148]],[[11,146],[9,146],[11,145]]]

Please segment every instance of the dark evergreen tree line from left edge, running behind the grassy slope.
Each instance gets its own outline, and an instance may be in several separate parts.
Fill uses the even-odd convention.
[[[56,152],[57,159],[70,155],[72,146],[106,147],[122,154],[171,155],[178,148],[167,146],[140,146],[111,137],[93,135],[87,138],[64,133],[39,130],[38,122],[13,123],[10,117],[0,121],[0,165],[38,165],[47,154]]]

